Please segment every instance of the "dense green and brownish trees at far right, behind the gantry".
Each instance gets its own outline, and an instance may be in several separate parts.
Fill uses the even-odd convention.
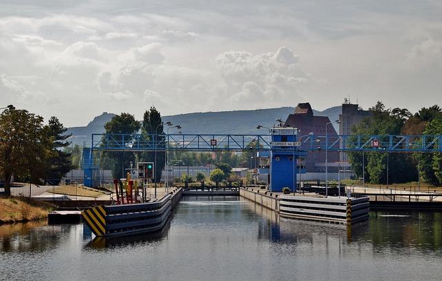
[[[437,105],[412,114],[407,108],[385,108],[378,101],[369,110],[372,116],[352,128],[354,135],[442,134],[442,109]],[[365,177],[365,182],[387,184],[420,180],[442,184],[441,153],[352,152],[348,157],[356,176]]]

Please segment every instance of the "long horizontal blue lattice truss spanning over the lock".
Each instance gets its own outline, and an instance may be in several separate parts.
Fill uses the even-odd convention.
[[[302,151],[442,153],[442,135],[312,135],[297,145]],[[293,149],[272,146],[271,135],[93,134],[91,139],[93,151],[164,151],[166,146],[172,151]]]

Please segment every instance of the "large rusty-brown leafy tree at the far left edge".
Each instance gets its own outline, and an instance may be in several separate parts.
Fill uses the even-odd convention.
[[[51,156],[51,140],[44,133],[43,117],[28,110],[5,110],[0,115],[0,173],[10,195],[12,175],[36,179],[44,175]]]

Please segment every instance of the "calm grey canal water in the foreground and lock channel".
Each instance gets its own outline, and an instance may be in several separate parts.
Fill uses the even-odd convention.
[[[155,235],[0,226],[0,280],[442,280],[442,213],[372,211],[347,229],[240,197],[183,197]]]

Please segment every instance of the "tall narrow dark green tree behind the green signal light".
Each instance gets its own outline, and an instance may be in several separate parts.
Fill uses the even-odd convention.
[[[160,182],[162,170],[164,169],[166,163],[166,158],[164,155],[164,149],[166,146],[164,144],[164,126],[162,124],[161,114],[157,108],[155,108],[155,106],[151,106],[150,110],[146,110],[146,112],[144,112],[142,135],[145,139],[148,139],[148,135],[155,135],[155,142],[160,144],[160,147],[162,147],[162,149],[156,153],[157,157],[154,178],[155,182]],[[141,153],[140,158],[142,158],[143,162],[155,162],[155,152]]]

